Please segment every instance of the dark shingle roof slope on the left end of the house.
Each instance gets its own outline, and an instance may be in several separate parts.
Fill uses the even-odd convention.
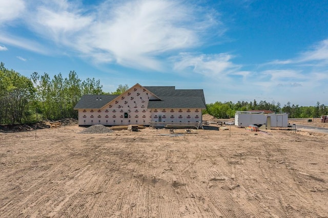
[[[118,96],[119,95],[83,95],[75,105],[74,110],[99,109]]]

